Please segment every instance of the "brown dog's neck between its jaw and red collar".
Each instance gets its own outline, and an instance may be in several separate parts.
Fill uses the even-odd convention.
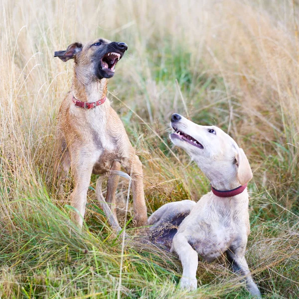
[[[80,73],[75,70],[71,90],[72,95],[81,102],[96,102],[106,96],[107,83],[108,80],[106,78],[84,82],[80,78]]]

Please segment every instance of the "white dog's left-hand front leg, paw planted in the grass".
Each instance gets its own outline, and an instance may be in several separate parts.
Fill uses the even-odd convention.
[[[196,290],[196,271],[198,266],[198,254],[188,243],[182,234],[176,234],[172,241],[171,252],[176,252],[183,266],[183,275],[180,280],[180,288],[188,291]]]

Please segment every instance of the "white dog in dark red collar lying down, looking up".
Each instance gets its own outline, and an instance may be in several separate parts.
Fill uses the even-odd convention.
[[[232,270],[244,276],[251,295],[261,298],[245,260],[250,233],[246,186],[252,171],[243,149],[221,129],[196,125],[178,114],[172,115],[171,126],[172,143],[197,163],[211,181],[212,191],[196,204],[184,200],[159,208],[149,218],[150,236],[158,236],[157,243],[164,238],[166,246],[172,240],[170,251],[178,254],[183,266],[182,289],[197,288],[198,255],[212,262],[226,252]],[[163,231],[165,223],[173,224],[172,230]]]

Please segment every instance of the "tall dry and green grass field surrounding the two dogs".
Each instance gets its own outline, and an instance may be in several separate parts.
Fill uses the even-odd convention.
[[[171,114],[217,125],[254,173],[254,280],[264,298],[299,298],[298,17],[296,0],[1,0],[0,298],[249,298],[224,259],[200,263],[198,290],[184,293],[176,257],[134,241],[122,255],[96,205],[96,177],[83,231],[69,222],[51,182],[73,63],[53,53],[96,37],[129,45],[109,98],[144,164],[149,215],[209,191],[170,145]],[[121,179],[120,205],[127,188]],[[71,189],[70,178],[66,200]]]

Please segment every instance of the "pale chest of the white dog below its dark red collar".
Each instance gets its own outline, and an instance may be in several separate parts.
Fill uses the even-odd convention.
[[[246,234],[246,214],[240,210],[238,202],[215,201],[208,193],[198,201],[178,232],[189,236],[188,241],[194,250],[211,262],[222,255],[240,234]]]

